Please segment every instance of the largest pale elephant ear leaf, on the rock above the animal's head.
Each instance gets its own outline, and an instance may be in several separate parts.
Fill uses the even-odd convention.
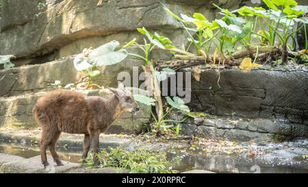
[[[88,58],[88,62],[94,66],[109,66],[122,62],[127,57],[126,49],[116,50],[120,43],[113,40],[94,49]]]

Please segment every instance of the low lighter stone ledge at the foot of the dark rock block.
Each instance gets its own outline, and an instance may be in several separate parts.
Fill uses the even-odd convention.
[[[216,140],[250,141],[250,140],[289,140],[307,138],[307,125],[290,124],[285,121],[270,119],[239,119],[221,116],[199,118],[201,125],[188,119],[181,124],[181,133]]]

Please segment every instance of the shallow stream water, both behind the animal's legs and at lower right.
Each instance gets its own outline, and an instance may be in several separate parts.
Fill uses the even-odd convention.
[[[303,143],[296,146],[296,142],[292,142],[291,147],[290,145],[283,147],[282,144],[268,144],[253,147],[253,150],[261,150],[264,153],[251,157],[248,154],[207,153],[202,150],[173,148],[168,149],[167,158],[172,163],[172,169],[177,171],[203,169],[216,173],[308,173],[308,159],[302,157],[308,151],[307,145],[303,146]],[[39,155],[40,149],[0,144],[0,153],[31,158]],[[60,159],[69,162],[80,162],[81,159],[81,151],[77,150],[59,149],[58,155]]]

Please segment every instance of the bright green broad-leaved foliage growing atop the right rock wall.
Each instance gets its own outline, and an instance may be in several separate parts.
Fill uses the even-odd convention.
[[[185,14],[177,16],[166,7],[165,10],[188,32],[188,41],[192,42],[198,55],[204,55],[203,49],[208,53],[211,45],[215,45],[222,55],[233,53],[235,46],[239,44],[243,47],[277,45],[284,51],[287,48],[292,49],[294,45],[287,42],[290,38],[294,42],[296,32],[305,24],[297,29],[293,25],[298,22],[308,23],[308,18],[305,17],[308,6],[297,5],[294,0],[264,0],[264,3],[267,9],[243,6],[233,11],[214,4],[220,10],[222,18],[212,22],[200,13],[194,13],[193,17]],[[257,25],[259,31],[256,31]],[[259,38],[260,43],[254,43],[253,38]],[[305,40],[308,48],[307,38]]]

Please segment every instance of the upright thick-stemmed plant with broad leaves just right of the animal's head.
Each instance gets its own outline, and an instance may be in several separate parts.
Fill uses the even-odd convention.
[[[172,106],[172,108],[167,108],[165,111],[163,108],[163,101],[159,82],[164,81],[167,78],[167,75],[174,75],[176,72],[170,68],[162,68],[162,71],[157,71],[155,69],[155,63],[153,63],[153,61],[151,60],[151,52],[153,51],[153,49],[155,49],[155,47],[158,47],[159,49],[174,49],[175,46],[172,45],[171,40],[169,38],[166,38],[165,36],[160,36],[156,32],[154,34],[151,34],[144,27],[138,28],[138,32],[146,36],[146,38],[144,38],[144,45],[139,45],[136,40],[132,40],[127,45],[125,45],[125,47],[135,44],[144,52],[143,56],[135,53],[128,54],[140,58],[144,61],[144,66],[142,66],[144,73],[146,73],[146,79],[144,81],[144,84],[146,85],[146,90],[149,91],[149,94],[152,97],[147,97],[145,95],[134,95],[134,97],[136,101],[149,105],[150,110],[151,106],[155,106],[155,111],[157,115],[155,115],[152,110],[151,112],[155,124],[154,132],[156,132],[156,135],[159,136],[162,130],[168,127],[173,127],[173,125],[166,125],[167,122],[179,122],[164,119],[168,114],[170,114],[172,108],[185,110],[185,112],[189,112],[189,108],[183,103],[183,101],[179,97],[174,97],[175,100],[166,97],[168,103]],[[149,40],[149,42],[146,39]]]

